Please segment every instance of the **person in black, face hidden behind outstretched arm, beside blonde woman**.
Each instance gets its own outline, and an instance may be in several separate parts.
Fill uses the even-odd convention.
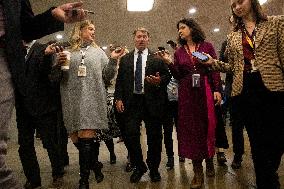
[[[55,47],[34,41],[25,43],[25,46],[29,49],[24,70],[26,95],[22,95],[17,88],[15,90],[19,155],[27,178],[25,188],[41,186],[34,148],[35,129],[38,129],[43,147],[48,152],[52,167],[52,187],[59,187],[63,183],[63,158],[66,158],[67,152],[63,154],[61,150],[63,126],[59,83],[49,79]],[[67,140],[67,133],[64,139]],[[67,146],[67,142],[65,145]]]

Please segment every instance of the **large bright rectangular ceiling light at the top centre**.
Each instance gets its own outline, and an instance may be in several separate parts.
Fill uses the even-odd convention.
[[[146,12],[153,8],[154,0],[127,0],[128,11]]]

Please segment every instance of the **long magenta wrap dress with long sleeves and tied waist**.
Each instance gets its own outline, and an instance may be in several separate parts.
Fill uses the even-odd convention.
[[[216,58],[211,43],[202,42],[197,49]],[[196,70],[194,71],[194,65]],[[216,117],[213,92],[220,90],[220,73],[190,58],[180,47],[174,54],[174,64],[169,66],[178,88],[178,149],[179,156],[198,160],[215,154]],[[200,87],[192,87],[192,74],[200,74]]]

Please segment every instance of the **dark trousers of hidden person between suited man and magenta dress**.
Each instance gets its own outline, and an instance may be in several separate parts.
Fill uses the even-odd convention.
[[[165,118],[163,119],[164,144],[168,157],[174,156],[172,133],[173,133],[174,123],[175,126],[177,127],[177,120],[178,120],[178,101],[168,101]]]

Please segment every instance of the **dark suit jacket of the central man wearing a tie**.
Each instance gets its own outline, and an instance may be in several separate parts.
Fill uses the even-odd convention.
[[[154,86],[144,81],[144,94],[148,112],[151,116],[161,117],[167,102],[167,85],[171,75],[163,61],[154,58],[150,52],[146,62],[145,76],[155,75],[156,72],[159,72],[161,76],[160,85]],[[115,85],[115,100],[122,100],[126,112],[133,98],[133,91],[134,51],[121,58]]]

